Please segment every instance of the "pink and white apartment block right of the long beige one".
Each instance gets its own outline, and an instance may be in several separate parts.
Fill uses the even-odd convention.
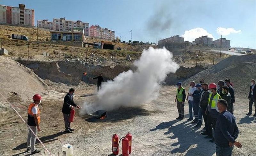
[[[115,40],[115,31],[95,25],[90,27],[90,36],[107,40]]]

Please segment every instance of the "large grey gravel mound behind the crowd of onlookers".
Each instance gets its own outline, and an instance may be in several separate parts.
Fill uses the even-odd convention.
[[[190,77],[184,85],[188,87],[189,82],[198,83],[200,79],[204,79],[207,83],[217,83],[218,80],[225,80],[228,77],[234,83],[236,97],[244,97],[248,95],[250,80],[256,77],[255,69],[255,54],[232,56]]]

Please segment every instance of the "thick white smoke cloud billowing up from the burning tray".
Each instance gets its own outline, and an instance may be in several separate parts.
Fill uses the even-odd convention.
[[[136,106],[158,97],[161,83],[168,73],[175,73],[179,65],[172,60],[172,53],[149,47],[134,62],[136,71],[129,70],[102,84],[94,103],[84,103],[81,115],[97,110],[114,110],[121,106]]]

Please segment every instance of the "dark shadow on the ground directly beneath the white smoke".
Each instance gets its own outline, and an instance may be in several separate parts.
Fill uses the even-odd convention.
[[[107,117],[105,119],[96,119],[91,116],[84,116],[85,121],[88,122],[116,122],[116,121],[122,121],[127,119],[132,119],[135,116],[146,116],[150,115],[151,113],[157,113],[157,111],[148,111],[146,109],[143,109],[141,107],[122,107],[117,110],[108,111]]]

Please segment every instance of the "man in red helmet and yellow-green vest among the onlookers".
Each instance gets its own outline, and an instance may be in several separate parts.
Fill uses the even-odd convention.
[[[209,89],[212,93],[210,93],[208,98],[208,106],[206,108],[205,114],[207,114],[207,132],[208,136],[205,136],[205,138],[212,138],[210,142],[214,142],[214,137],[212,136],[212,128],[215,130],[216,121],[220,114],[220,111],[218,110],[217,103],[218,100],[221,99],[220,95],[217,93],[217,85],[215,83],[211,83],[209,85]]]

